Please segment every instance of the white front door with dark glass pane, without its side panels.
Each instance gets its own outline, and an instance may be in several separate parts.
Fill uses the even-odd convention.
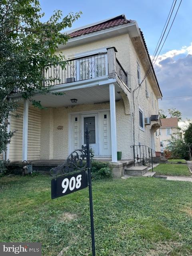
[[[86,124],[88,125],[88,130],[90,131],[90,147],[94,151],[94,155],[99,155],[99,140],[98,140],[98,113],[96,114],[82,114],[81,115],[81,144],[86,144]]]

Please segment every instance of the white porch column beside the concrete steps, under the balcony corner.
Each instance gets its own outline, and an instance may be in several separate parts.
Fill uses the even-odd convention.
[[[116,110],[115,110],[115,86],[114,86],[114,84],[109,85],[109,94],[110,94],[112,162],[117,162],[117,132],[116,132]]]

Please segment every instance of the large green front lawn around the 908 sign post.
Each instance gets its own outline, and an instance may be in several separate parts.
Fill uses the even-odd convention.
[[[96,255],[192,255],[191,191],[191,182],[157,178],[94,181]],[[88,188],[51,200],[45,176],[0,178],[0,241],[91,256]]]

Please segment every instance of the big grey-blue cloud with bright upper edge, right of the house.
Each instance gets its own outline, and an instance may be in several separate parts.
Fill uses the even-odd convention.
[[[192,95],[192,44],[162,54],[154,65],[164,98]],[[160,108],[176,108],[192,119],[192,98],[159,101]]]

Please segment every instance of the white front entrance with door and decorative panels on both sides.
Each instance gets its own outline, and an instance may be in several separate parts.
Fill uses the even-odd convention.
[[[110,111],[70,115],[70,152],[86,144],[86,124],[90,131],[90,146],[94,156],[111,156]],[[69,152],[69,153],[70,153]]]

